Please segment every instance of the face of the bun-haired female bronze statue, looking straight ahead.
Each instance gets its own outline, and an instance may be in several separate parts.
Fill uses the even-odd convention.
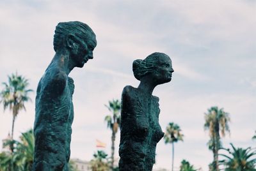
[[[157,84],[164,84],[172,80],[172,60],[168,56],[161,56],[157,60],[156,70],[153,72]]]

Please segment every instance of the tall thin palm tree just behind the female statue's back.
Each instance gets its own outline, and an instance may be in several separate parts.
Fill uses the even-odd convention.
[[[109,105],[105,105],[110,112],[112,112],[111,115],[106,115],[105,121],[108,124],[108,128],[111,129],[112,131],[112,136],[111,136],[111,169],[113,170],[114,168],[114,154],[115,154],[115,138],[116,138],[116,133],[118,131],[118,127],[120,127],[120,121],[121,121],[121,116],[120,116],[120,110],[121,110],[121,103],[119,100],[112,100],[108,102]]]

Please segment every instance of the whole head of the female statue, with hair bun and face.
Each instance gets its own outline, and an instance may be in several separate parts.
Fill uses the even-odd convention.
[[[137,80],[150,77],[156,84],[164,84],[172,80],[172,60],[164,53],[155,52],[145,59],[137,59],[132,63],[132,71]]]

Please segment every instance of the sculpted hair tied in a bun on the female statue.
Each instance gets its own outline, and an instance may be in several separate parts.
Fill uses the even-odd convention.
[[[161,56],[167,56],[167,55],[161,52],[155,52],[153,54],[150,54],[143,60],[137,59],[133,61],[132,71],[133,71],[134,77],[137,80],[141,80],[142,77],[145,77],[149,73],[152,73],[157,66],[158,58]]]

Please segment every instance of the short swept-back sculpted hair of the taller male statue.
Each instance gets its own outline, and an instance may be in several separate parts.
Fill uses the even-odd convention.
[[[55,29],[53,48],[55,52],[63,45],[67,34],[74,34],[81,39],[88,39],[90,36],[95,36],[92,29],[83,22],[60,22]]]

